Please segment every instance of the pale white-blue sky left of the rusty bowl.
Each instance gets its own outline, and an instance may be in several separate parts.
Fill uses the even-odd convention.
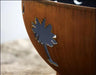
[[[1,43],[28,38],[21,1],[1,1]]]

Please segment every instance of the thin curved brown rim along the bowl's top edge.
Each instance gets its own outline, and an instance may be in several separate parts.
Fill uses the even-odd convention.
[[[68,8],[78,8],[78,9],[85,9],[85,10],[96,10],[96,7],[90,7],[90,6],[80,6],[75,4],[69,4],[69,3],[62,3],[62,2],[54,2],[54,1],[48,1],[48,0],[22,0],[22,1],[36,1],[39,3],[52,5],[52,6],[58,6],[58,7],[68,7]]]

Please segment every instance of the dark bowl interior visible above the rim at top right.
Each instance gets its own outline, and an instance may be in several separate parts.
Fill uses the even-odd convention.
[[[75,4],[80,6],[96,7],[96,0],[51,0],[51,1]]]

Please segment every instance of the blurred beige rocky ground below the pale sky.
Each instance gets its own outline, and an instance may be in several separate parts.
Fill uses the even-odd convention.
[[[56,75],[39,56],[30,40],[1,44],[1,75]]]

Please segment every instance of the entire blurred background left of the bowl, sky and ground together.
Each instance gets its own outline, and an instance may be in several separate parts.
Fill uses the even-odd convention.
[[[27,35],[21,1],[1,3],[1,75],[55,75]]]

